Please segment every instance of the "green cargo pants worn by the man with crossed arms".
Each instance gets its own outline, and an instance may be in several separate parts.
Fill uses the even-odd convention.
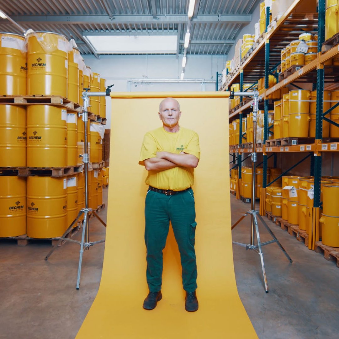
[[[193,190],[175,195],[148,191],[145,200],[145,243],[147,249],[146,278],[149,291],[158,292],[162,283],[162,251],[171,221],[177,241],[182,284],[186,292],[197,288],[197,263],[195,257],[195,206]]]

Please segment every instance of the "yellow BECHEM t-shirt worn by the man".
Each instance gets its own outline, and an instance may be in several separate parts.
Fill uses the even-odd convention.
[[[165,131],[163,127],[149,131],[142,142],[139,164],[144,160],[155,158],[157,152],[177,153],[185,152],[200,159],[199,136],[196,132],[180,127],[176,133]],[[159,189],[182,191],[194,183],[194,169],[174,167],[164,171],[148,171],[145,183]]]

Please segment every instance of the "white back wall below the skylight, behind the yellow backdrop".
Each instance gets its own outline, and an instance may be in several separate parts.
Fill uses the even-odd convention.
[[[113,92],[136,91],[215,91],[215,83],[164,83],[164,84],[134,84],[129,86],[129,79],[161,78],[180,79],[181,56],[175,55],[102,55],[83,56],[92,72],[99,73],[107,81],[107,85],[114,83]],[[216,73],[225,68],[226,56],[187,55],[185,79],[214,79]],[[106,99],[106,128],[111,126],[111,100]]]

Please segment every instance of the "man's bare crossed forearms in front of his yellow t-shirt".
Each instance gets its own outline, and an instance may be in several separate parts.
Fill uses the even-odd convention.
[[[169,168],[178,166],[196,168],[199,159],[193,154],[181,152],[175,154],[171,152],[157,152],[155,158],[148,158],[144,160],[147,171],[164,171]]]

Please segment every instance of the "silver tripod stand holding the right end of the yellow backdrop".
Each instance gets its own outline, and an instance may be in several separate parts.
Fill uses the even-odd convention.
[[[280,249],[283,251],[284,255],[290,262],[292,263],[291,257],[287,254],[285,249],[282,247],[280,242],[278,241],[277,237],[274,235],[274,233],[271,231],[271,229],[267,226],[265,221],[263,220],[262,216],[259,214],[258,211],[255,209],[255,197],[256,197],[256,178],[255,178],[255,172],[256,172],[256,162],[257,162],[257,153],[256,153],[256,140],[257,140],[257,114],[259,109],[259,94],[257,91],[254,92],[231,92],[231,98],[234,96],[253,96],[253,152],[251,155],[251,161],[252,161],[252,199],[251,199],[251,209],[245,212],[241,218],[232,226],[232,229],[234,229],[247,215],[251,215],[251,243],[250,244],[243,244],[238,243],[236,241],[233,241],[233,244],[240,245],[245,247],[246,249],[253,250],[257,252],[260,256],[261,261],[261,268],[262,268],[262,275],[264,277],[264,284],[265,284],[265,292],[268,293],[268,285],[267,285],[267,279],[266,279],[266,273],[265,273],[265,265],[264,265],[264,257],[262,254],[262,246],[277,243]],[[263,173],[265,175],[265,173]],[[265,226],[268,233],[271,234],[273,237],[272,240],[261,242],[260,241],[260,234],[259,234],[259,227],[258,227],[258,221],[257,221],[257,215],[259,220],[262,222],[262,224]],[[257,236],[257,244],[255,244],[255,234]]]

